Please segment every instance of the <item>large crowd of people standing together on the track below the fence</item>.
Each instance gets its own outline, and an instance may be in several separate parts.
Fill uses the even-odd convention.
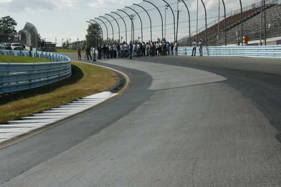
[[[175,55],[178,55],[178,47],[179,43],[176,41],[175,46],[168,41],[148,41],[148,42],[134,42],[130,41],[128,44],[126,41],[124,41],[121,44],[109,44],[107,45],[99,45],[99,46],[93,46],[90,48],[89,46],[86,46],[85,48],[85,59],[87,56],[87,60],[90,59],[93,61],[96,61],[96,52],[97,59],[100,60],[102,57],[103,59],[109,59],[109,58],[116,58],[117,56],[120,58],[128,58],[132,59],[132,56],[140,57],[140,56],[160,56],[160,55],[174,55],[174,48],[175,48]],[[81,60],[81,49],[78,48],[78,60]]]

